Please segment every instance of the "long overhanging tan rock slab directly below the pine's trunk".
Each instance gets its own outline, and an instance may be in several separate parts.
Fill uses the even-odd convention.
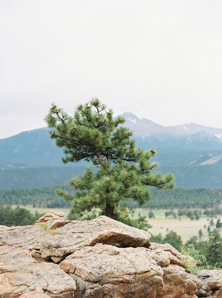
[[[43,258],[64,257],[84,246],[93,246],[96,243],[118,247],[148,247],[151,238],[148,232],[127,226],[107,216],[75,224],[69,223],[56,231],[60,235],[54,235],[42,242]]]

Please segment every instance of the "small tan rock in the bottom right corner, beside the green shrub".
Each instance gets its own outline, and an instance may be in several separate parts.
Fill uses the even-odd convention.
[[[203,281],[198,297],[222,298],[222,270],[200,270],[198,278]]]

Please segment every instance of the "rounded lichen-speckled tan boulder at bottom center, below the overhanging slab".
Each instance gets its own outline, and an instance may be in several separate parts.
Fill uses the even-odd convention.
[[[86,246],[60,263],[76,281],[76,297],[154,298],[163,286],[163,271],[144,247]]]

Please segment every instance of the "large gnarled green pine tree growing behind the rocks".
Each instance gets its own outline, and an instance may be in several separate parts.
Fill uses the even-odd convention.
[[[141,206],[149,200],[148,186],[174,188],[172,173],[152,173],[158,167],[158,163],[150,161],[155,149],[136,149],[132,130],[120,126],[124,117],[113,118],[112,109],[106,110],[97,98],[78,105],[74,117],[53,103],[45,120],[52,128],[50,137],[64,148],[64,164],[83,159],[98,166],[95,174],[89,166],[82,177],[70,180],[74,194],[56,189],[59,196],[72,202],[71,213],[82,216],[101,208],[106,216],[118,218],[116,207],[128,198]]]

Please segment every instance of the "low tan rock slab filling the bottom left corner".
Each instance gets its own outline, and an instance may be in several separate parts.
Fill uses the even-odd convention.
[[[1,246],[0,273],[0,297],[4,298],[17,298],[39,288],[42,293],[34,293],[40,295],[37,297],[71,298],[76,289],[75,281],[58,265],[39,264],[24,249]]]

